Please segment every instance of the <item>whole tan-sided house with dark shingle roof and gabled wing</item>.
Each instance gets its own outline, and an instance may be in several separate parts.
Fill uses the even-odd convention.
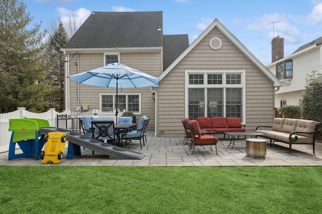
[[[247,130],[272,124],[274,91],[282,83],[217,19],[190,46],[187,35],[163,35],[162,26],[162,12],[94,12],[62,49],[66,75],[114,57],[158,76],[158,87],[119,92],[119,108],[149,117],[148,129],[158,137],[182,136],[185,117],[240,117]],[[114,95],[113,88],[66,82],[66,108],[111,110]],[[139,103],[131,109],[134,98]]]

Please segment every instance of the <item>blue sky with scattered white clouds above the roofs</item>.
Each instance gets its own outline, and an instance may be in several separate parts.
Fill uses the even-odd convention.
[[[163,34],[188,34],[190,44],[218,19],[264,65],[271,41],[284,38],[284,57],[322,36],[322,0],[22,0],[42,29],[92,12],[163,11]]]

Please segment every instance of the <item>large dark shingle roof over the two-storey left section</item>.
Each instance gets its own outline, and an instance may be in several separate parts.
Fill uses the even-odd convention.
[[[162,47],[163,13],[93,12],[64,48]]]

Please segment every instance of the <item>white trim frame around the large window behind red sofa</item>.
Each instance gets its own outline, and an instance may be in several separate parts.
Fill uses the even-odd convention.
[[[204,84],[190,85],[189,84],[189,74],[205,74],[204,75]],[[227,73],[238,73],[241,74],[240,84],[226,84],[226,75]],[[207,74],[222,74],[222,84],[208,84]],[[185,117],[188,117],[188,89],[189,88],[242,88],[243,100],[242,100],[242,118],[241,121],[246,123],[246,70],[185,70]],[[223,103],[226,103],[226,91],[223,90]],[[205,92],[205,97],[207,97],[207,90]],[[224,108],[223,115],[226,115],[226,108]]]

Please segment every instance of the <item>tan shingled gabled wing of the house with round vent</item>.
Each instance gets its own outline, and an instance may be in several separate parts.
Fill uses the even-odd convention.
[[[181,136],[185,117],[238,117],[247,130],[273,122],[281,82],[218,20],[160,78],[159,137]]]

